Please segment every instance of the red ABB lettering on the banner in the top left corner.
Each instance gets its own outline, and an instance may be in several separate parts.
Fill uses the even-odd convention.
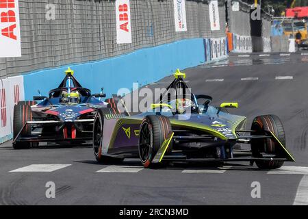
[[[5,28],[1,29],[1,35],[17,40],[14,35],[14,29],[16,28],[16,14],[15,0],[0,0],[0,23],[7,24]]]

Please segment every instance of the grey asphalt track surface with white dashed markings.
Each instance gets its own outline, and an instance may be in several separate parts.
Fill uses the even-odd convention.
[[[246,163],[149,170],[134,159],[121,166],[97,164],[88,146],[16,151],[6,142],[0,146],[0,205],[307,205],[307,67],[308,56],[298,53],[231,55],[210,67],[185,70],[192,92],[213,96],[214,105],[238,102],[231,113],[248,116],[248,124],[257,115],[279,116],[296,159],[285,163],[290,167],[272,174]],[[166,77],[149,87],[170,81]],[[55,183],[55,198],[45,196],[49,181]],[[251,196],[254,181],[261,185],[261,198]]]

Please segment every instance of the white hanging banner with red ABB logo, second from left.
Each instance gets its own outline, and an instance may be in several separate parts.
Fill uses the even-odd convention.
[[[129,0],[116,0],[116,43],[131,43],[131,8]]]

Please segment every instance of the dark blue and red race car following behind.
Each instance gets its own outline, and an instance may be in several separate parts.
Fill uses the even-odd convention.
[[[110,104],[99,100],[105,97],[103,89],[91,94],[75,79],[73,70],[68,68],[65,73],[49,96],[34,96],[34,101],[20,101],[14,106],[14,149],[28,149],[38,142],[81,144],[92,140],[95,112]]]

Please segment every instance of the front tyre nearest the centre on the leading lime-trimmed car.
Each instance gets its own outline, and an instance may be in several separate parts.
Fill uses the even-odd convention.
[[[153,164],[159,147],[166,140],[171,131],[171,124],[166,116],[146,116],[140,125],[138,151],[140,162],[144,168],[158,167]],[[170,142],[166,154],[172,151],[172,141]]]

